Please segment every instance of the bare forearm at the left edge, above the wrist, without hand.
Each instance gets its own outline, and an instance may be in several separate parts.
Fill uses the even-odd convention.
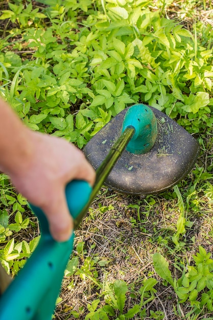
[[[30,130],[8,104],[0,99],[0,169],[8,174],[21,170],[31,153]]]

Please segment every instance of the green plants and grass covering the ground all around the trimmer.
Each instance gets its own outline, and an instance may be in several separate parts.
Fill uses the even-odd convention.
[[[102,189],[76,232],[55,318],[212,319],[211,2],[10,0],[0,10],[0,95],[31,129],[83,148],[118,112],[145,102],[201,148],[167,192]],[[38,235],[1,174],[0,260],[12,276]]]

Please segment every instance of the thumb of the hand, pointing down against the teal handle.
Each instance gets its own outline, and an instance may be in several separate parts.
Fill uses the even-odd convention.
[[[52,237],[58,242],[67,241],[72,235],[73,218],[69,213],[63,190],[57,192],[57,198],[49,203],[44,213],[49,221]]]

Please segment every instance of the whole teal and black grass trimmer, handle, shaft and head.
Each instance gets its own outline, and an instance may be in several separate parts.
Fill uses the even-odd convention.
[[[191,170],[198,149],[196,140],[162,112],[143,104],[122,111],[84,149],[98,168],[93,189],[86,181],[75,180],[66,186],[75,229],[108,175],[107,184],[120,192],[162,191]],[[73,250],[74,233],[68,241],[56,242],[43,212],[34,205],[31,208],[38,217],[41,238],[15,279],[2,288],[0,320],[50,320]]]

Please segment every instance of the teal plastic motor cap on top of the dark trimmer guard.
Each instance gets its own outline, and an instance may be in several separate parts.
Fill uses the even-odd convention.
[[[134,154],[147,153],[157,138],[157,120],[154,112],[145,104],[133,105],[126,112],[122,132],[127,127],[134,127],[135,133],[127,145],[127,151]]]

